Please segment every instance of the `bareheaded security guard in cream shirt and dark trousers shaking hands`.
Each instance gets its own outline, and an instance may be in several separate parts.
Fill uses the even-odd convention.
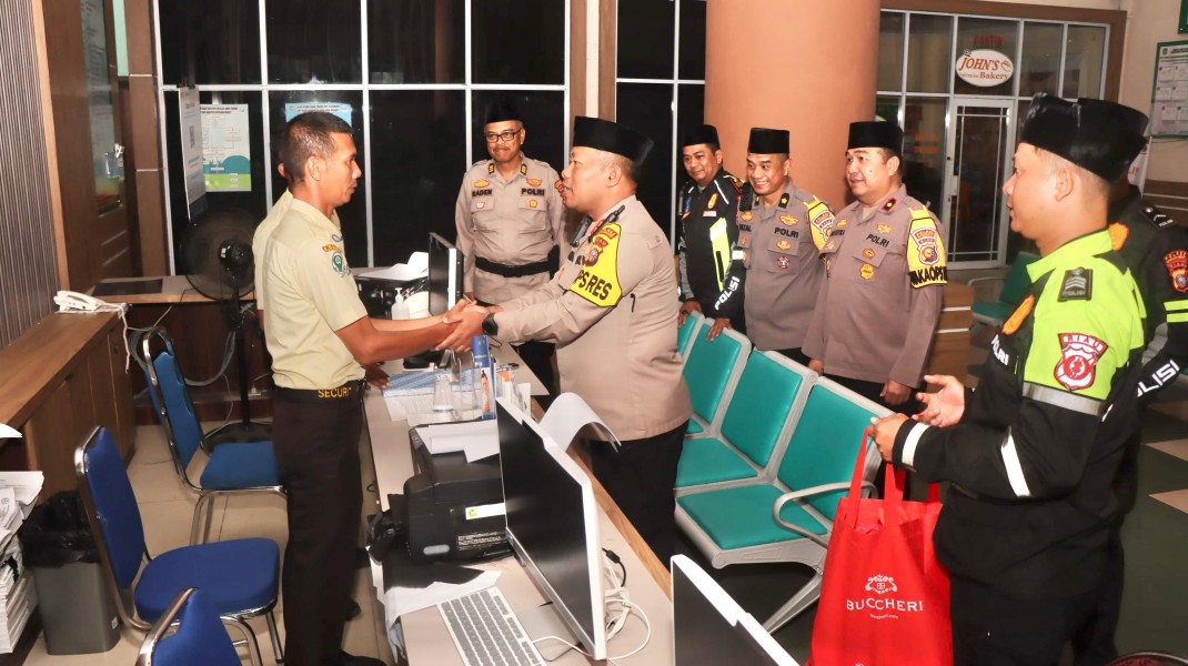
[[[341,651],[362,509],[364,364],[438,344],[447,317],[371,319],[334,209],[359,179],[350,126],[308,113],[285,127],[292,201],[264,249],[265,340],[277,385],[272,444],[285,471],[285,664],[375,665]]]

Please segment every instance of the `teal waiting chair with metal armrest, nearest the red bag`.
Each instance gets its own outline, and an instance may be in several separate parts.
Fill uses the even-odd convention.
[[[813,578],[764,622],[775,632],[821,596],[821,573],[838,501],[871,417],[891,412],[820,379],[796,420],[776,477],[677,497],[677,525],[715,569],[741,563],[800,563]],[[864,484],[878,469],[867,449]]]

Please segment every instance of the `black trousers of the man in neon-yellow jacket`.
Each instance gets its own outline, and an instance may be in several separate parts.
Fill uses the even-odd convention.
[[[955,666],[1056,666],[1083,626],[1097,590],[1053,600],[1019,600],[954,577],[949,598]]]

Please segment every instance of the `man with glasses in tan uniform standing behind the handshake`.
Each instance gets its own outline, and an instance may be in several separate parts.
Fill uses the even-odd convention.
[[[488,106],[485,121],[491,159],[462,177],[454,221],[467,296],[504,303],[546,284],[557,269],[565,208],[557,172],[520,151],[526,131],[511,100]],[[552,392],[552,344],[530,341],[517,351]]]

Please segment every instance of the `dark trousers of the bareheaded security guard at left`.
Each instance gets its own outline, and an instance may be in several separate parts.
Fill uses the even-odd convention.
[[[287,477],[289,545],[280,592],[286,666],[337,664],[362,510],[362,392],[273,401],[272,446]]]

